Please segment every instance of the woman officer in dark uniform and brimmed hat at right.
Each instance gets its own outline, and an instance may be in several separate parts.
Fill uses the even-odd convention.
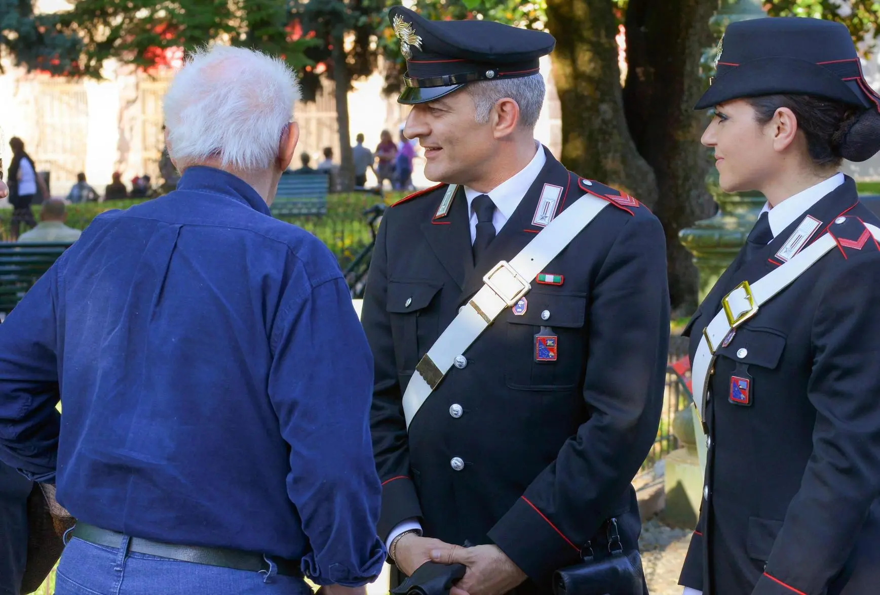
[[[767,204],[686,329],[708,455],[680,583],[877,593],[880,221],[840,164],[880,149],[880,96],[844,25],[760,18],[722,47],[702,143]]]

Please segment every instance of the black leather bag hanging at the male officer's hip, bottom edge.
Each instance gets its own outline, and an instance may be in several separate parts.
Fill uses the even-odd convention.
[[[607,522],[607,533],[605,555],[596,555],[588,543],[583,562],[554,572],[554,595],[645,595],[639,551],[623,551],[617,519]]]

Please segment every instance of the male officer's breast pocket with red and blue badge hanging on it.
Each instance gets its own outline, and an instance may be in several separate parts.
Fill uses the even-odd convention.
[[[540,391],[576,387],[583,379],[586,295],[532,290],[525,300],[524,310],[512,308],[503,315],[510,349],[507,386]],[[555,345],[543,337],[555,337]]]

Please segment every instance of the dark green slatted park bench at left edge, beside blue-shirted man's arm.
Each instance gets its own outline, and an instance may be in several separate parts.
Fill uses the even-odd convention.
[[[0,242],[0,322],[69,247],[69,242]]]

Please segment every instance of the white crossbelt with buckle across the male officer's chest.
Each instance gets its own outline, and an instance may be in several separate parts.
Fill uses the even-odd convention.
[[[495,265],[483,282],[486,284],[474,294],[471,301],[458,311],[458,316],[431,345],[428,353],[415,366],[415,374],[403,395],[403,413],[407,429],[413,417],[444,376],[463,356],[467,348],[505,308],[510,308],[532,289],[532,279],[538,276],[550,261],[568,246],[581,230],[596,218],[609,202],[591,194],[584,194],[574,204],[558,214],[546,228],[532,239],[519,254]]]

